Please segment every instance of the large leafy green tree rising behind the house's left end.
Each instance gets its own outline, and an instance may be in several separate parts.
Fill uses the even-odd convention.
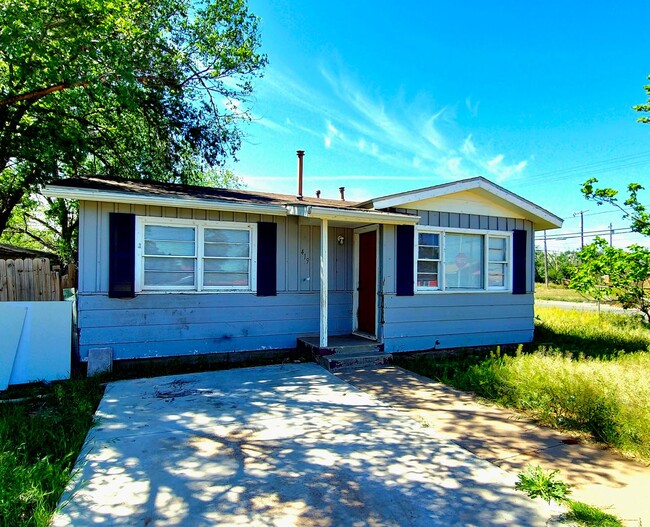
[[[0,0],[0,233],[47,180],[234,158],[259,38],[243,0]]]

